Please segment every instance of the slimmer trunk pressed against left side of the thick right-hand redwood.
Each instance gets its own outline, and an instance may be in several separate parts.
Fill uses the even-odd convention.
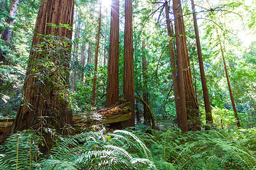
[[[165,1],[165,11],[166,11],[166,24],[167,24],[167,33],[169,35],[169,50],[170,50],[170,60],[171,60],[171,76],[174,83],[174,99],[176,107],[176,116],[178,126],[181,127],[181,101],[179,100],[178,92],[178,78],[176,74],[176,65],[175,65],[175,56],[174,56],[174,32],[171,29],[171,22],[169,17],[169,6],[168,2]]]

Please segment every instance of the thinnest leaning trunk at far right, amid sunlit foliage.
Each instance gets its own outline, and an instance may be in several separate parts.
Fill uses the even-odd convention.
[[[219,42],[220,42],[220,39],[219,39]],[[234,100],[232,89],[231,89],[231,86],[230,86],[230,80],[229,80],[229,77],[228,77],[228,69],[227,69],[227,66],[225,64],[225,57],[224,57],[224,52],[223,52],[223,47],[221,45],[221,42],[220,42],[220,51],[221,51],[221,55],[223,57],[223,64],[224,64],[224,68],[225,68],[225,74],[226,74],[227,82],[228,82],[228,91],[230,92],[230,100],[231,100],[231,103],[232,103],[232,106],[233,106],[236,123],[237,123],[238,128],[239,128],[239,127],[241,127],[241,125],[240,125],[240,121],[239,121],[239,118],[238,118],[238,112],[236,111],[236,108],[235,108],[235,100]]]

